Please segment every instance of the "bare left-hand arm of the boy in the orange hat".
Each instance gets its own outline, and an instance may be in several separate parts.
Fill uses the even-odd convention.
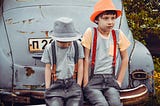
[[[84,76],[83,76],[83,87],[85,87],[88,83],[89,75],[88,75],[88,69],[89,69],[89,54],[90,50],[88,48],[84,48]]]

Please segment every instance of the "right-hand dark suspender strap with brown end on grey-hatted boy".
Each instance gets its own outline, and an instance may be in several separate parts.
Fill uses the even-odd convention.
[[[75,56],[74,56],[74,73],[73,73],[73,79],[77,78],[77,72],[78,72],[78,57],[79,57],[79,50],[78,50],[78,44],[77,41],[73,41],[74,49],[75,49]]]

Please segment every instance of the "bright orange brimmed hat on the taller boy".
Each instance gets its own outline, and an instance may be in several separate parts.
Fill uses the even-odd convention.
[[[90,17],[90,20],[92,22],[95,22],[96,16],[98,16],[106,10],[115,10],[117,12],[117,17],[121,15],[121,10],[115,8],[112,0],[99,0],[94,6],[94,12]]]

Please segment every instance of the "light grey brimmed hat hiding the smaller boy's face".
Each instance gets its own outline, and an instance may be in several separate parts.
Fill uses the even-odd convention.
[[[74,41],[80,39],[82,36],[82,34],[76,31],[72,19],[68,17],[58,18],[50,34],[54,40],[62,42]]]

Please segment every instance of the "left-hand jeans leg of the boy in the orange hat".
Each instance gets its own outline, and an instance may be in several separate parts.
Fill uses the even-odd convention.
[[[102,93],[103,75],[94,75],[84,88],[84,97],[93,106],[109,106]]]

